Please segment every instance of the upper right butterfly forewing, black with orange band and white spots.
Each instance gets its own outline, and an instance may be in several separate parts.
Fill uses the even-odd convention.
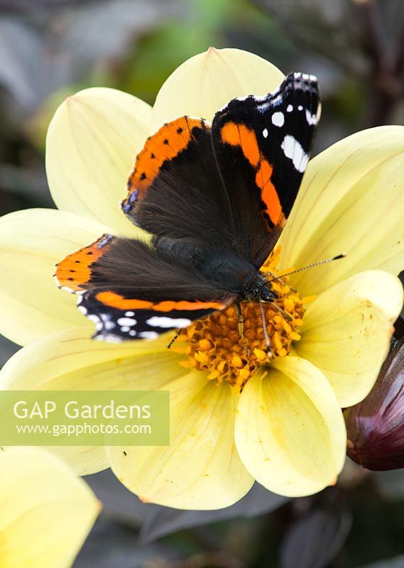
[[[258,266],[293,207],[319,118],[317,79],[302,73],[290,73],[264,97],[233,99],[214,116],[214,153],[241,238],[259,234],[262,216],[275,237],[261,247],[259,239],[253,239],[252,256]]]

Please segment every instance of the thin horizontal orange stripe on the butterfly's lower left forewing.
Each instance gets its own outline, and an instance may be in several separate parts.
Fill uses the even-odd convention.
[[[223,310],[226,305],[221,302],[174,302],[164,300],[157,304],[147,300],[132,300],[114,292],[99,292],[96,300],[118,310],[154,310],[155,312],[171,312],[173,310]]]

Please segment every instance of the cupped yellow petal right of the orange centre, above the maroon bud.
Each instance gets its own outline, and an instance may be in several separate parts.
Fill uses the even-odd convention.
[[[342,408],[359,403],[371,391],[402,305],[398,278],[367,271],[326,290],[307,306],[295,351],[322,370]]]

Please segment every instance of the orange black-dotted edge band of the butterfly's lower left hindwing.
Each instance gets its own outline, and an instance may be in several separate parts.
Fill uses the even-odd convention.
[[[111,235],[102,235],[97,241],[69,254],[56,265],[55,279],[59,288],[81,292],[91,280],[91,265],[111,246]]]

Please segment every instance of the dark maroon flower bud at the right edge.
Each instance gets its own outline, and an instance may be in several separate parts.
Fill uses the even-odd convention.
[[[404,467],[404,338],[392,342],[371,393],[344,417],[351,459],[374,471]]]

